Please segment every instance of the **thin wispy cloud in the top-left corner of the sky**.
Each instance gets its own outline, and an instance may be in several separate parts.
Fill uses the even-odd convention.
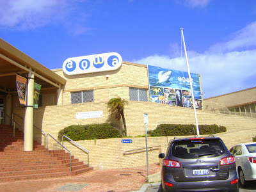
[[[70,35],[87,33],[83,26],[85,12],[79,12],[79,3],[86,0],[10,0],[0,1],[0,27],[29,30],[47,25],[62,25]],[[78,5],[78,6],[77,6]]]

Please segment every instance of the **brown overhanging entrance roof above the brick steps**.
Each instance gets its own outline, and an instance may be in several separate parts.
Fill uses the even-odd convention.
[[[42,84],[42,88],[54,87],[49,81],[60,85],[66,83],[63,77],[0,38],[0,89],[14,91],[16,74],[27,74],[29,68],[38,75],[35,82]],[[43,80],[44,78],[47,80]]]

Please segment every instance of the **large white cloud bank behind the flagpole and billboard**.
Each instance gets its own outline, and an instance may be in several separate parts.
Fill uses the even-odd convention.
[[[255,35],[250,36],[249,41],[246,40],[254,28],[255,23],[252,23],[235,33],[236,36],[232,40],[213,45],[212,47],[221,45],[218,52],[212,52],[212,47],[211,51],[206,51],[204,54],[188,52],[190,71],[201,76],[204,99],[255,86],[256,49],[240,50],[255,45]],[[236,49],[239,51],[235,51]],[[136,60],[134,63],[188,71],[184,56],[181,59],[154,55]]]

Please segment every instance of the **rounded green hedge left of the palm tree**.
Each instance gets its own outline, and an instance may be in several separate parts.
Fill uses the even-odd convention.
[[[63,135],[74,141],[122,137],[119,131],[116,130],[111,124],[70,125],[59,131],[59,141],[62,140]],[[68,140],[64,138],[64,141]]]

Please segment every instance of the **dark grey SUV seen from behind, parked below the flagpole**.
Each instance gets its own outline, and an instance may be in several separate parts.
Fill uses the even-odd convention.
[[[159,191],[239,191],[236,159],[220,138],[170,141]]]

